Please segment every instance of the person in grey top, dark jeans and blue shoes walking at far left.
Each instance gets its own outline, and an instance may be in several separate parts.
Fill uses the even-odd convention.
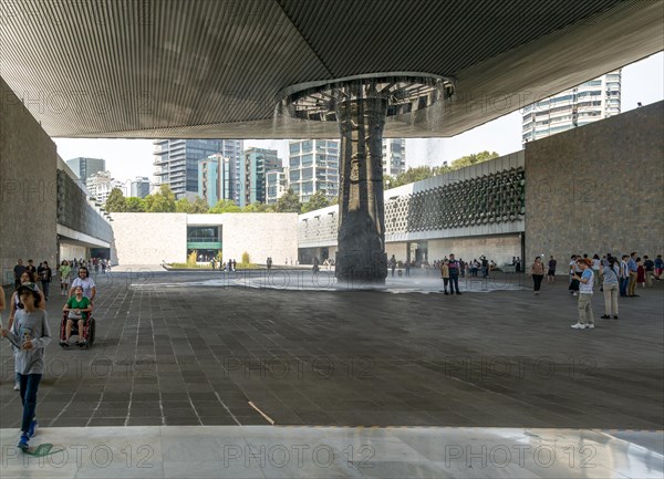
[[[18,348],[14,368],[19,375],[23,418],[18,447],[28,450],[34,436],[37,421],[37,392],[44,373],[45,347],[51,342],[46,312],[40,310],[42,298],[33,283],[21,284],[17,291],[22,309],[17,311],[11,330],[0,329],[2,337],[9,337]]]

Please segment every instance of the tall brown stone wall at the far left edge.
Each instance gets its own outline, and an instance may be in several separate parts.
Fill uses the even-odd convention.
[[[0,79],[0,273],[17,259],[56,263],[55,144]]]

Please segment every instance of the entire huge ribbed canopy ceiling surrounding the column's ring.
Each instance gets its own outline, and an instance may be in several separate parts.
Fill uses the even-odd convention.
[[[0,76],[56,137],[315,138],[290,85],[380,72],[456,95],[386,136],[452,136],[664,45],[662,0],[0,0]]]

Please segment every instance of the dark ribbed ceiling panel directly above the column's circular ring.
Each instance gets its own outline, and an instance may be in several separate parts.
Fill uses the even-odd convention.
[[[622,0],[279,0],[333,76],[454,75]]]

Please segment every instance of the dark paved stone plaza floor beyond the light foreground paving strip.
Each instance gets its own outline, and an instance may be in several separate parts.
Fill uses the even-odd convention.
[[[619,321],[599,319],[595,294],[598,327],[575,331],[560,278],[540,296],[518,275],[507,290],[486,292],[502,278],[476,280],[446,296],[434,277],[332,292],[260,289],[264,271],[252,274],[252,287],[197,285],[222,278],[212,272],[98,275],[93,347],[48,348],[42,426],[662,429],[661,283],[622,300]],[[53,336],[61,303],[51,295]],[[14,428],[13,360],[0,347],[0,426]]]

